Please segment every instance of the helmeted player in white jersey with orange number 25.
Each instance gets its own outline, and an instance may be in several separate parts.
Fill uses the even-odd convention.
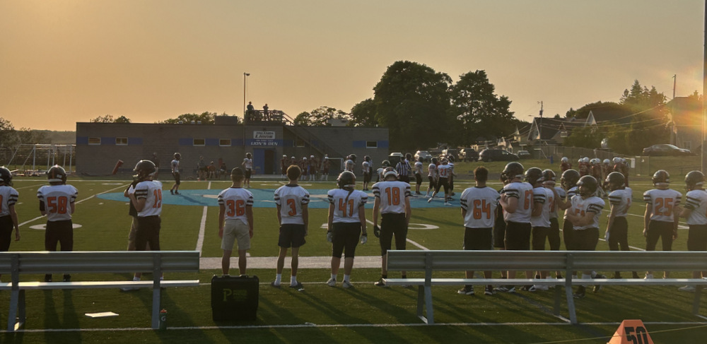
[[[625,177],[625,176],[624,176]],[[643,215],[643,237],[645,251],[655,251],[658,239],[662,239],[662,250],[672,251],[672,241],[677,239],[678,216],[675,208],[679,206],[682,194],[670,189],[670,174],[666,170],[658,170],[653,174],[653,186],[643,193],[645,214]],[[678,214],[679,215],[679,214]],[[663,278],[670,275],[663,273]],[[652,271],[646,271],[645,279],[653,278]]]

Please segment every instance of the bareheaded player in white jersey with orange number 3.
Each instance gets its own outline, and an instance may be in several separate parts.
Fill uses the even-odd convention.
[[[277,246],[280,247],[280,252],[277,256],[275,280],[271,283],[273,287],[280,287],[285,256],[287,256],[287,249],[291,247],[290,287],[302,289],[302,283],[297,281],[298,254],[300,247],[305,244],[305,237],[308,234],[310,194],[305,188],[297,185],[299,177],[300,167],[291,165],[287,168],[287,178],[290,182],[275,190],[277,220],[280,224],[280,237]]]

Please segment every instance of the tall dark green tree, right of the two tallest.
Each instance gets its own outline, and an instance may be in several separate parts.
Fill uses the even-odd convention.
[[[495,86],[489,82],[486,71],[463,74],[450,92],[450,115],[457,125],[455,140],[469,146],[479,140],[495,139],[513,134],[515,122],[510,111],[510,100],[505,95],[494,93]]]

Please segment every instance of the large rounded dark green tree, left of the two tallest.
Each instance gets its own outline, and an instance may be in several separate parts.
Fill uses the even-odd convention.
[[[423,64],[397,61],[373,91],[375,119],[388,128],[393,150],[436,146],[448,138],[451,78]]]

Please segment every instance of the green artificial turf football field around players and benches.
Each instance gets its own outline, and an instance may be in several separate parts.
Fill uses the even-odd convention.
[[[524,160],[525,167],[551,167],[546,160]],[[693,160],[677,158],[653,158],[652,165],[664,165],[672,174],[674,189],[684,192],[682,180],[689,170],[699,167],[699,158]],[[475,162],[457,163],[459,174],[455,181],[458,195],[464,187],[472,185],[470,171],[480,165]],[[496,179],[503,169],[503,162],[484,163]],[[557,167],[557,164],[554,166]],[[495,176],[495,177],[494,177]],[[255,176],[257,178],[257,176]],[[332,180],[334,178],[330,178]],[[171,186],[164,180],[165,189]],[[11,251],[34,251],[43,249],[44,231],[32,229],[42,225],[35,193],[45,184],[42,178],[16,178],[15,188],[20,192],[20,203],[16,206],[21,223],[22,238],[13,242]],[[123,250],[127,246],[127,233],[131,219],[127,215],[127,199],[116,201],[105,196],[122,193],[128,184],[120,179],[69,178],[79,191],[74,223],[81,225],[74,231],[74,250]],[[256,180],[254,189],[271,192],[280,184],[276,180]],[[302,182],[308,189],[331,189],[330,182]],[[228,182],[182,182],[185,191],[228,187]],[[360,184],[359,184],[360,185]],[[210,186],[210,187],[209,187]],[[424,184],[423,184],[424,186]],[[500,186],[493,184],[492,186]],[[629,243],[643,248],[641,235],[642,215],[645,209],[642,193],[650,189],[650,176],[631,177],[633,207],[629,217]],[[426,186],[424,186],[426,187]],[[360,188],[360,186],[359,186]],[[204,192],[201,192],[202,194]],[[425,189],[423,189],[424,193]],[[216,192],[216,191],[214,191]],[[97,196],[104,194],[103,196]],[[188,193],[187,193],[188,194]],[[171,196],[165,193],[165,200]],[[194,198],[196,199],[196,198]],[[214,201],[211,199],[211,201]],[[458,201],[453,207],[414,208],[409,239],[426,249],[460,249],[463,237],[462,218]],[[215,201],[214,201],[215,203]],[[372,203],[372,200],[371,202]],[[194,203],[197,204],[197,203]],[[255,236],[252,239],[252,257],[274,257],[278,225],[275,208],[257,207],[255,213]],[[204,216],[205,214],[205,216]],[[202,256],[221,256],[217,227],[218,208],[199,205],[175,205],[165,201],[161,245],[165,250],[197,249],[200,232],[203,235]],[[367,208],[370,220],[370,208]],[[204,221],[203,230],[201,229]],[[311,208],[310,235],[308,243],[300,249],[302,256],[328,256],[330,244],[321,227],[327,220],[325,208]],[[606,220],[602,220],[603,235]],[[413,229],[419,228],[419,229]],[[426,228],[426,229],[421,229]],[[433,229],[429,229],[433,228]],[[686,249],[686,230],[679,231],[674,250]],[[419,249],[412,244],[408,249]],[[597,249],[608,249],[600,241]],[[371,235],[366,245],[359,245],[357,256],[378,256],[378,240]],[[433,291],[436,321],[441,325],[423,326],[415,316],[416,290],[392,287],[379,288],[373,282],[380,277],[380,268],[356,268],[352,280],[354,290],[343,290],[325,285],[329,278],[328,264],[316,268],[301,269],[298,280],[305,290],[298,292],[289,288],[276,290],[269,287],[274,278],[275,259],[271,268],[250,269],[249,274],[261,279],[258,320],[253,322],[218,322],[211,320],[209,280],[216,268],[201,269],[198,276],[168,276],[167,278],[194,278],[204,283],[201,287],[166,290],[163,304],[168,309],[170,331],[159,332],[148,329],[150,324],[151,292],[123,293],[118,290],[53,290],[28,291],[28,321],[24,333],[3,334],[0,343],[228,343],[257,340],[257,343],[450,343],[470,341],[472,343],[606,343],[618,324],[624,319],[642,319],[655,343],[696,343],[697,338],[707,334],[707,321],[691,315],[692,294],[678,292],[677,287],[611,287],[597,295],[588,295],[576,302],[578,326],[565,324],[551,315],[553,292],[518,292],[515,295],[496,294],[493,297],[457,295],[455,287],[436,287]],[[235,264],[232,263],[233,269]],[[284,275],[288,274],[288,268]],[[414,273],[409,274],[415,276]],[[444,275],[440,273],[439,275]],[[3,276],[7,280],[8,276]],[[29,276],[40,280],[42,276]],[[96,278],[130,278],[129,275],[74,275],[74,280]],[[341,273],[339,274],[339,280]],[[286,276],[284,277],[286,281]],[[9,293],[0,293],[0,324],[6,322]],[[703,297],[704,299],[704,297]],[[563,305],[564,307],[564,305]],[[707,316],[702,302],[701,314]],[[91,319],[85,313],[112,311],[119,316]],[[566,310],[563,309],[563,314]],[[445,325],[446,324],[446,325]],[[4,328],[4,326],[3,326]],[[76,331],[77,328],[83,331]],[[70,331],[45,331],[67,329]],[[92,329],[93,331],[88,331]],[[664,331],[664,332],[660,332]],[[602,338],[604,337],[604,338]]]

